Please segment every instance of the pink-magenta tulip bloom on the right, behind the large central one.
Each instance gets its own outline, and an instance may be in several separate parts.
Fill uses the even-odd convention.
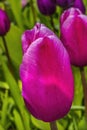
[[[87,16],[77,8],[66,10],[61,16],[60,30],[71,63],[75,66],[87,65]]]

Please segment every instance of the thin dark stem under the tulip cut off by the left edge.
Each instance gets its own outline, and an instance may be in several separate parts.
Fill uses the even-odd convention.
[[[14,73],[13,73],[13,67],[11,66],[12,62],[11,62],[11,59],[10,59],[10,56],[9,56],[8,47],[7,47],[7,43],[6,43],[5,37],[2,37],[2,41],[3,41],[3,44],[4,44],[6,56],[7,56],[7,59],[8,59],[8,67],[9,67],[12,75],[14,75]]]

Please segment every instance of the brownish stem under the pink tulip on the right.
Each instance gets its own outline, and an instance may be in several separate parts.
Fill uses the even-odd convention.
[[[85,115],[87,120],[87,82],[86,82],[85,71],[83,67],[80,67],[80,74],[81,74],[81,80],[83,85]]]

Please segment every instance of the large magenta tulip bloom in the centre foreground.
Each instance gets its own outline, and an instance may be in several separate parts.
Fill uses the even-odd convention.
[[[36,24],[22,36],[22,96],[33,116],[46,122],[64,117],[73,100],[69,56],[57,36]]]

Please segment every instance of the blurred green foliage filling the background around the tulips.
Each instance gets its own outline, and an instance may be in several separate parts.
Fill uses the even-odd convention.
[[[84,0],[84,3],[87,7],[87,0]],[[50,130],[49,123],[37,120],[29,114],[21,96],[19,78],[19,67],[22,61],[21,35],[24,30],[31,29],[36,21],[44,23],[52,30],[55,28],[55,33],[59,35],[59,17],[62,9],[58,7],[52,16],[53,28],[51,17],[46,17],[39,12],[35,0],[33,0],[34,10],[32,10],[31,0],[28,0],[24,8],[21,0],[2,0],[0,7],[6,9],[11,20],[11,28],[5,39],[12,63],[9,66],[3,41],[0,38],[0,130]],[[59,130],[86,130],[80,72],[75,67],[72,67],[72,70],[75,79],[74,102],[69,114],[59,120],[57,125]],[[85,72],[87,73],[87,68]]]

